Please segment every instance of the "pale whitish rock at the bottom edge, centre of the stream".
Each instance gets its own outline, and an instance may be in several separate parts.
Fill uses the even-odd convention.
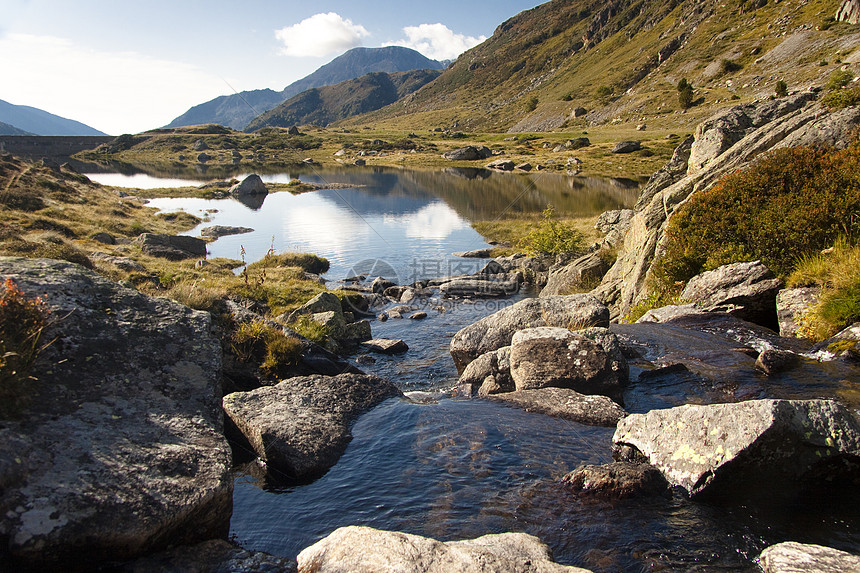
[[[442,543],[397,531],[341,527],[304,549],[297,560],[303,573],[587,573],[554,563],[549,548],[526,533]]]

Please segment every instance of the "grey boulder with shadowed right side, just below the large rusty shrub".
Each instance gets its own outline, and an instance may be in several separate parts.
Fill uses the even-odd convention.
[[[782,281],[761,261],[723,265],[690,279],[681,299],[705,311],[727,312],[778,330],[776,295]]]

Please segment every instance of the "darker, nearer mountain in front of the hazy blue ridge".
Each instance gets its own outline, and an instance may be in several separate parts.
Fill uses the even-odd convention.
[[[377,110],[439,77],[439,70],[371,72],[335,85],[311,88],[256,117],[245,131],[313,123],[322,127]]]

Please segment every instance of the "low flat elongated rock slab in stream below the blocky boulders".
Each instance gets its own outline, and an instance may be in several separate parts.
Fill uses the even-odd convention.
[[[613,427],[627,412],[606,396],[588,396],[569,388],[517,390],[488,396],[527,412],[564,418],[588,426]]]

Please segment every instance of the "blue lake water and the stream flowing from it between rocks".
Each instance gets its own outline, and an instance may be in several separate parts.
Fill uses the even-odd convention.
[[[202,226],[255,229],[210,244],[210,256],[240,258],[244,252],[250,262],[272,247],[310,251],[331,261],[326,274],[331,280],[369,268],[406,283],[477,270],[484,261],[451,256],[486,245],[470,221],[536,213],[548,203],[562,213],[587,216],[629,207],[636,198],[629,182],[546,174],[339,170],[287,177],[296,175],[355,188],[272,194],[251,206],[232,199],[151,204],[207,216]],[[449,393],[457,379],[448,355],[454,333],[533,294],[453,301],[444,312],[427,309],[424,321],[374,321],[374,336],[402,338],[410,350],[377,356],[376,363],[362,368],[393,380],[412,399],[389,400],[360,418],[338,464],[310,484],[267,483],[253,463],[237,471],[231,536],[246,548],[294,557],[344,525],[441,540],[525,531],[549,544],[558,562],[596,572],[754,571],[752,560],[763,547],[789,539],[860,552],[860,510],[839,499],[762,509],[694,503],[679,491],[638,500],[575,497],[561,477],[582,463],[611,461],[612,429]],[[631,325],[618,327],[617,333],[636,338],[645,358],[649,352],[697,344],[695,336],[665,328]],[[750,343],[756,335],[740,336]],[[727,339],[724,344],[734,343]],[[624,397],[628,409],[818,397],[850,376],[838,367],[822,372],[809,366],[765,380],[735,355],[725,356],[716,360],[724,379],[691,372],[650,378],[640,376],[651,367],[648,361],[634,362],[634,382]]]

